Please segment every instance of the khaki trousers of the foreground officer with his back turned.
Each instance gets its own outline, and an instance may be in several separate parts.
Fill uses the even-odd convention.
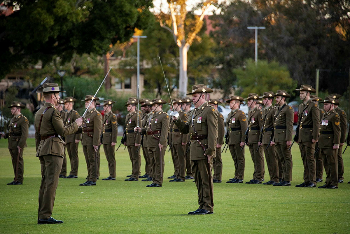
[[[55,155],[39,157],[41,185],[39,190],[38,219],[48,219],[52,215],[63,158]]]

